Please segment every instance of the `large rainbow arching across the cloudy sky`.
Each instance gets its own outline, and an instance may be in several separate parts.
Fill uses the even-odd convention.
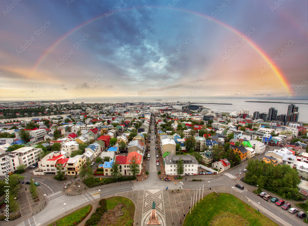
[[[148,9],[149,6],[143,6],[140,7],[138,9]],[[160,10],[170,10],[167,7],[153,7],[152,8],[155,9],[160,9]],[[123,12],[127,12],[130,10],[136,10],[136,8],[128,8],[128,9],[123,9],[123,10],[118,10],[116,12],[114,12],[114,14],[118,14],[118,13],[123,13]],[[226,28],[227,30],[231,31],[232,33],[236,34],[237,36],[244,36],[244,34],[242,34],[240,31],[236,30],[235,28],[229,26],[228,24],[225,24],[224,22],[221,22],[215,18],[212,18],[208,15],[205,14],[200,14],[194,11],[190,11],[190,10],[185,10],[185,9],[180,9],[180,8],[174,8],[172,9],[174,11],[179,11],[182,13],[187,13],[187,14],[193,14],[195,16],[199,16],[201,18],[207,19],[209,21],[213,21],[216,24]],[[98,21],[102,18],[105,17],[105,13],[102,15],[99,15],[95,18],[92,18],[86,22],[81,23],[80,25],[78,25],[77,27],[71,29],[69,32],[67,32],[66,34],[64,34],[61,38],[59,38],[55,43],[53,43],[46,51],[45,53],[38,59],[38,61],[35,63],[35,65],[32,68],[32,75],[34,74],[34,72],[38,69],[39,65],[46,59],[46,57],[64,40],[66,39],[68,36],[70,36],[71,34],[75,33],[76,31],[78,31],[79,29],[83,28],[84,26],[87,26],[89,24],[91,24],[92,22]],[[256,44],[254,43],[251,39],[249,38],[245,38],[245,42],[247,42],[266,62],[266,64],[268,65],[272,65],[271,69],[274,71],[275,75],[277,76],[277,78],[279,79],[279,81],[281,82],[281,84],[283,85],[283,87],[286,89],[286,91],[290,94],[293,95],[292,92],[292,88],[290,86],[289,81],[287,80],[287,78],[284,76],[284,74],[280,71],[280,69],[278,68],[278,66],[274,65],[271,63],[270,61],[270,57]]]

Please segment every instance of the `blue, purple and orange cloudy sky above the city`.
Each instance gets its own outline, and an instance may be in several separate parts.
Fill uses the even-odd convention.
[[[308,97],[307,1],[4,0],[0,99]]]

